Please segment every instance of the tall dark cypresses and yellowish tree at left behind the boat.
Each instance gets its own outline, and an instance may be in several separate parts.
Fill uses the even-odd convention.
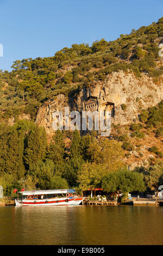
[[[95,146],[97,151],[93,150]],[[97,152],[101,153],[101,159],[96,159]],[[123,166],[122,156],[121,143],[104,140],[99,145],[93,133],[80,137],[75,130],[67,151],[64,133],[60,130],[47,145],[45,130],[32,121],[17,121],[14,126],[0,125],[0,182],[6,194],[15,186],[31,190],[79,186],[82,184],[80,173],[86,164],[90,163],[92,168],[94,163],[97,172],[103,164],[109,172]]]

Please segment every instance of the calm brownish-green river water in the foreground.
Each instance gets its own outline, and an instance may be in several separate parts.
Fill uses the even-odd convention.
[[[162,244],[163,207],[0,207],[0,245]]]

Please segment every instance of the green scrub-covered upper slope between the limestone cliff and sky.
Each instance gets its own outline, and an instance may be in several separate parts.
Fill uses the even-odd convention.
[[[163,37],[163,17],[158,22],[133,29],[115,41],[74,44],[53,57],[16,60],[12,71],[0,72],[0,120],[22,113],[35,119],[37,109],[62,93],[72,96],[80,88],[103,81],[112,71],[144,72],[154,80],[163,74],[159,44]]]

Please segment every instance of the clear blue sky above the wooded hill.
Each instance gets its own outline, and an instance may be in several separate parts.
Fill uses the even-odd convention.
[[[0,0],[0,69],[63,47],[117,39],[163,16],[162,0]]]

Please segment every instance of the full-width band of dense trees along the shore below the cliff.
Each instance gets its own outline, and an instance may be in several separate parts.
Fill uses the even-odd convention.
[[[132,129],[137,126],[131,125]],[[162,165],[128,171],[123,163],[123,144],[94,133],[80,137],[75,130],[71,147],[65,147],[65,132],[58,130],[47,144],[45,130],[32,121],[0,125],[0,183],[4,194],[21,190],[103,187],[122,192],[156,189],[163,184]],[[153,147],[152,152],[158,152]]]

